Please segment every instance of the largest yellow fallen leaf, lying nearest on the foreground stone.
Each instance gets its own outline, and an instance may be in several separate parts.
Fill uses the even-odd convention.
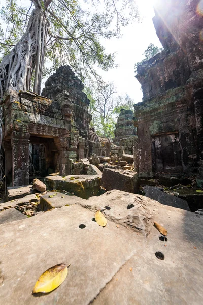
[[[56,289],[65,280],[67,276],[67,268],[69,266],[60,264],[46,270],[36,282],[32,293],[47,293]]]

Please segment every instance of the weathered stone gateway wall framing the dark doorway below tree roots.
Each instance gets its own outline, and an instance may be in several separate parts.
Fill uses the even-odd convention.
[[[45,167],[46,174],[48,169],[58,169],[54,160],[59,162],[61,175],[70,174],[77,146],[72,141],[72,103],[65,91],[57,100],[51,101],[34,93],[9,90],[4,95],[2,107],[7,186],[29,184],[30,161],[35,159],[32,150],[35,145],[39,146],[39,151],[43,145],[46,151],[44,153],[43,150],[42,158],[39,158],[39,163],[43,163],[39,167]],[[30,147],[30,144],[34,146]],[[30,158],[30,153],[33,158]]]

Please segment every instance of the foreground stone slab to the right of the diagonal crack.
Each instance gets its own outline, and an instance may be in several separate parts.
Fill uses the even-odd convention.
[[[159,205],[154,219],[168,230],[167,242],[152,227],[145,246],[117,272],[94,305],[202,304],[203,216]],[[162,252],[164,260],[155,252]]]

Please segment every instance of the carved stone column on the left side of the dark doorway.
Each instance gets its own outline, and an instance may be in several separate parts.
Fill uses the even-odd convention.
[[[29,184],[29,138],[30,134],[13,131],[12,144],[12,178],[13,186]]]

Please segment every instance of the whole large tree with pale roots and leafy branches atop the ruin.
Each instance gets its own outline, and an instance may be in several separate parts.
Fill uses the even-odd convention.
[[[138,17],[131,0],[32,0],[25,8],[5,0],[0,28],[0,97],[7,89],[41,93],[42,78],[61,64],[69,64],[84,78],[98,77],[94,66],[108,70],[114,54],[106,54],[99,37],[120,35],[120,25]],[[92,8],[91,8],[92,6]],[[118,7],[117,7],[118,6]],[[91,8],[91,9],[90,9]],[[128,17],[124,17],[124,10]],[[20,38],[21,37],[21,38]],[[45,66],[45,60],[52,65]]]

